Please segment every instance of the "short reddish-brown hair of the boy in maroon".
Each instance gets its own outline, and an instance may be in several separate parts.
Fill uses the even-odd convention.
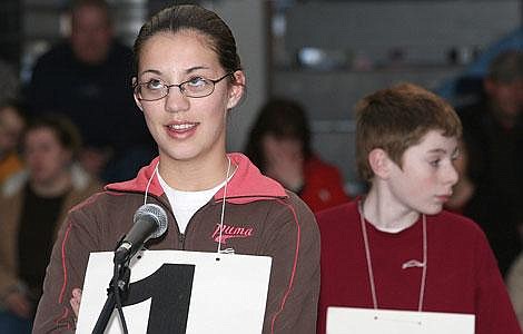
[[[402,167],[404,151],[430,130],[460,138],[462,125],[454,108],[441,97],[412,84],[401,84],[366,96],[356,105],[356,164],[365,180],[374,177],[368,155],[385,150]]]

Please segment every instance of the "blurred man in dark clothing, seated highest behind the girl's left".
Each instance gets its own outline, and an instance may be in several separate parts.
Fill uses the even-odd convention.
[[[115,38],[106,1],[75,0],[70,8],[70,37],[33,68],[30,111],[70,117],[85,143],[82,166],[108,181],[127,179],[154,155],[129,92],[132,52]]]

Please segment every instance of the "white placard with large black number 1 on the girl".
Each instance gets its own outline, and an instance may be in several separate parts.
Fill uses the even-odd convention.
[[[91,333],[107,299],[112,252],[91,253],[77,334]],[[130,264],[129,334],[262,333],[272,258],[144,250]],[[107,334],[124,333],[115,311]]]

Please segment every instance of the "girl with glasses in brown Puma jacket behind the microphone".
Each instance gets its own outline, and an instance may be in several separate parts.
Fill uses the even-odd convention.
[[[48,268],[36,333],[75,330],[89,253],[114,250],[144,202],[168,215],[167,233],[150,249],[270,256],[263,333],[314,333],[314,216],[244,155],[226,153],[227,114],[246,81],[229,28],[200,7],[170,7],[144,24],[135,55],[135,100],[159,156],[135,179],[106,186],[69,214]]]

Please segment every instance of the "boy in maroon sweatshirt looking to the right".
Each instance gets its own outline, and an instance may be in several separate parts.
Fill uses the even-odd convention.
[[[404,84],[367,96],[356,112],[358,170],[371,188],[317,216],[318,333],[327,307],[344,306],[473,314],[476,334],[520,334],[483,232],[442,210],[457,181],[453,108]]]

